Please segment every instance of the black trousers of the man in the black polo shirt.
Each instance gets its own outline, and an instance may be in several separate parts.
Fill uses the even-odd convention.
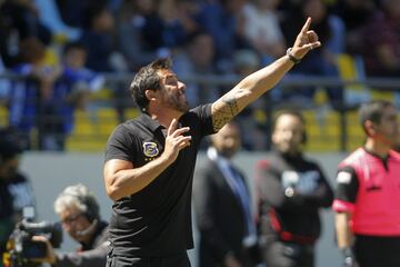
[[[190,267],[187,253],[168,257],[130,258],[107,256],[107,267]]]

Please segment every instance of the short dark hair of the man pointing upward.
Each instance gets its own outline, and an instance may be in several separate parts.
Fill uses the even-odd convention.
[[[157,91],[161,89],[161,76],[159,75],[159,71],[171,69],[171,67],[172,61],[170,58],[161,58],[140,68],[136,73],[129,91],[141,111],[146,111],[149,105],[149,99],[146,97],[146,90]]]

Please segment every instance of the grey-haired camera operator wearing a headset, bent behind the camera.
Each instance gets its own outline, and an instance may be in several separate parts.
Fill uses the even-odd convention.
[[[48,247],[47,257],[41,261],[57,267],[106,266],[108,227],[100,219],[94,195],[81,184],[69,186],[56,199],[54,211],[63,229],[80,244],[80,248],[73,253],[58,253],[46,237],[34,236],[33,240],[44,241]]]

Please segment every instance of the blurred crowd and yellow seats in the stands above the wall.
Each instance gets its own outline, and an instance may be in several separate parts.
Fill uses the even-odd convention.
[[[286,78],[300,82],[278,86],[241,113],[244,149],[269,149],[272,106],[312,108],[323,128],[341,123],[338,113],[374,93],[397,99],[360,85],[343,90],[339,81],[400,75],[400,0],[0,3],[0,126],[20,132],[27,149],[102,149],[116,123],[138,115],[128,95],[132,73],[159,57],[173,59],[192,107],[212,101],[283,56],[307,17],[323,46]],[[307,83],[308,77],[337,82]],[[321,120],[326,110],[338,112],[329,123]]]

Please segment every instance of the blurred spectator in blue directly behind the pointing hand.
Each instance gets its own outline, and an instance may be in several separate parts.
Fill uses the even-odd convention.
[[[336,67],[334,56],[343,52],[344,49],[344,28],[342,21],[328,13],[328,8],[322,0],[306,0],[301,4],[293,7],[282,22],[283,33],[287,40],[292,40],[296,37],[299,24],[306,17],[312,18],[312,24],[321,32],[319,38],[322,48],[312,57],[303,60],[301,66],[293,68],[291,71],[296,76],[321,76],[321,77],[338,77],[338,69]],[[304,106],[310,106],[313,102],[316,87],[294,88],[282,95],[282,99],[302,101]],[[327,95],[330,103],[336,105],[341,101],[341,90],[338,88],[327,88]]]

